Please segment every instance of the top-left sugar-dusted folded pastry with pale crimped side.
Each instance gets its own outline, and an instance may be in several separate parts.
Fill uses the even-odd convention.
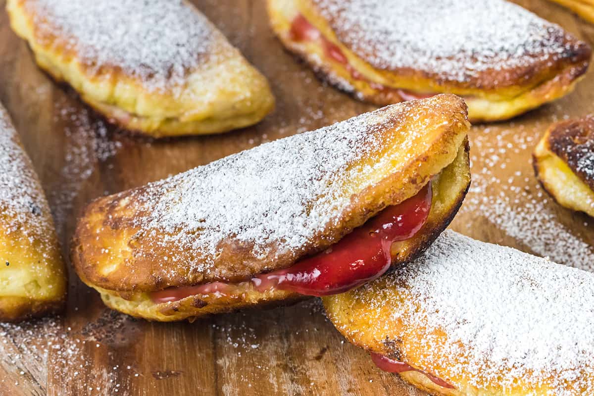
[[[266,78],[185,0],[8,0],[37,64],[122,128],[213,134],[274,107]]]

